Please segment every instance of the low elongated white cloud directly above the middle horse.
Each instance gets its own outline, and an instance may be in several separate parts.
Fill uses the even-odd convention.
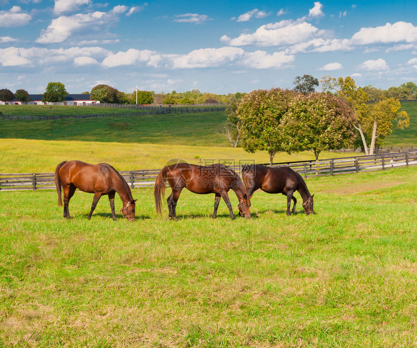
[[[243,55],[244,51],[235,47],[220,49],[193,50],[188,54],[172,57],[174,68],[195,68],[219,66],[232,62]]]

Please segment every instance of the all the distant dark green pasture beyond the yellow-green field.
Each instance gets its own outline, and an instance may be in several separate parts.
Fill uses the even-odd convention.
[[[30,107],[25,109],[24,107]],[[56,108],[56,109],[55,109]],[[410,126],[393,128],[385,138],[387,146],[417,146],[417,102],[402,103],[410,114]],[[14,111],[16,110],[16,111]],[[94,112],[93,112],[94,110]],[[131,109],[100,107],[0,105],[0,111],[19,115],[70,115],[131,112]],[[51,115],[49,114],[49,115]],[[144,116],[108,116],[90,119],[16,120],[0,122],[0,139],[80,140],[118,143],[147,143],[228,147],[225,137],[215,130],[225,121],[223,112]]]

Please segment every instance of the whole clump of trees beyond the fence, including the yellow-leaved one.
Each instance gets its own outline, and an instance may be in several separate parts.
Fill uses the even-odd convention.
[[[393,123],[400,128],[409,125],[397,98],[381,96],[369,103],[365,88],[357,87],[351,77],[324,76],[321,83],[325,92],[307,92],[299,83],[297,91],[260,89],[234,99],[217,133],[225,135],[231,146],[240,142],[248,152],[268,151],[272,164],[277,152],[311,150],[318,160],[321,151],[359,142],[366,154],[373,154],[375,145],[382,145],[392,132]]]

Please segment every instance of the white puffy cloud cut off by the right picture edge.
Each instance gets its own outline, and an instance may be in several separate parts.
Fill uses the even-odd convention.
[[[417,40],[417,27],[411,23],[386,23],[376,28],[361,28],[352,36],[352,41],[359,45],[392,42],[415,42]]]

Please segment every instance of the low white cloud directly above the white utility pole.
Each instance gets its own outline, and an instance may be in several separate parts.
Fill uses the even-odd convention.
[[[126,52],[109,54],[102,62],[103,66],[126,66],[146,63],[147,66],[158,67],[161,57],[155,51],[129,49]]]

